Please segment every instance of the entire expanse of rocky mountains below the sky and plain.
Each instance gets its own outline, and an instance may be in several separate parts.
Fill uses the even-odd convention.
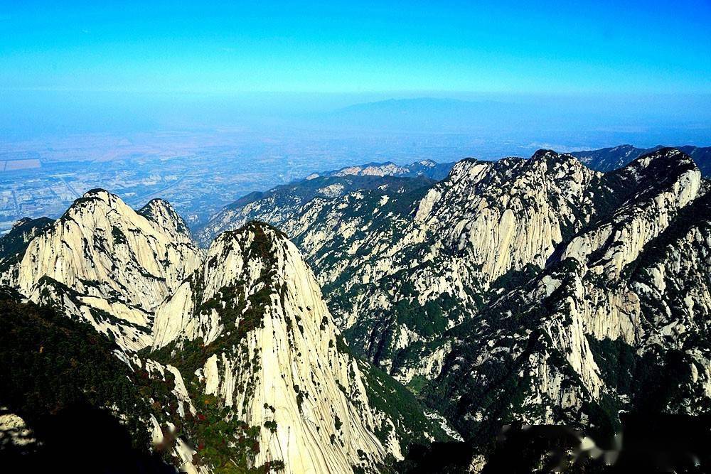
[[[225,208],[206,249],[169,203],[106,190],[22,220],[0,238],[0,456],[710,470],[709,153],[682,149],[314,173]]]

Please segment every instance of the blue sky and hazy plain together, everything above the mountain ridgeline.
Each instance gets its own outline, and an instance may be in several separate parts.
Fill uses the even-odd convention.
[[[199,225],[392,161],[711,145],[705,0],[27,1],[0,11],[0,227],[85,190]]]

